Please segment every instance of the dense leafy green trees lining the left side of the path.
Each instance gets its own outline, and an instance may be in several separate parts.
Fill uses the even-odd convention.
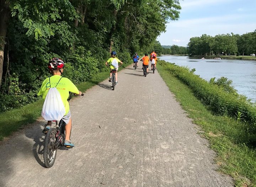
[[[153,50],[180,9],[178,0],[1,0],[0,112],[38,99],[53,57],[78,84],[106,71],[113,50],[124,63]]]

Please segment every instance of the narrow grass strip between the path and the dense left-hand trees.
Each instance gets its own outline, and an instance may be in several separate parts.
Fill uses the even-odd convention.
[[[124,64],[119,67],[119,71],[130,64]],[[78,89],[85,92],[92,86],[97,85],[101,81],[109,77],[109,71],[96,74],[91,80],[82,82],[77,85]],[[10,111],[0,114],[0,141],[11,135],[18,129],[23,128],[25,125],[31,124],[41,116],[43,100],[40,99],[34,103],[23,106],[21,108],[12,109]]]

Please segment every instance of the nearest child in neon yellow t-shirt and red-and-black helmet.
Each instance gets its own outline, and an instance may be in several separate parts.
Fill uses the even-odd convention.
[[[50,70],[50,73],[52,73],[52,76],[43,81],[37,95],[42,95],[43,99],[45,99],[50,88],[56,87],[56,89],[59,91],[62,102],[65,106],[65,114],[62,118],[62,120],[66,123],[66,137],[64,141],[64,146],[74,147],[74,144],[70,141],[72,121],[69,110],[69,102],[67,101],[67,99],[69,97],[69,92],[75,93],[79,96],[82,94],[82,92],[77,89],[77,87],[73,84],[73,82],[71,82],[71,80],[61,76],[64,66],[64,61],[60,58],[53,58],[49,61],[48,69]],[[44,126],[43,132],[47,133],[48,130],[51,128],[51,125],[52,121],[48,121],[47,124]]]

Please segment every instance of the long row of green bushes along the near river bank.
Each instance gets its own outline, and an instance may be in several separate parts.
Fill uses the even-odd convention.
[[[164,69],[176,76],[190,87],[194,95],[205,105],[218,115],[237,118],[238,113],[243,115],[241,121],[249,124],[249,133],[256,133],[256,107],[255,104],[247,100],[243,95],[238,94],[231,82],[226,78],[214,79],[207,82],[194,75],[188,68],[180,67],[175,64],[160,61]]]

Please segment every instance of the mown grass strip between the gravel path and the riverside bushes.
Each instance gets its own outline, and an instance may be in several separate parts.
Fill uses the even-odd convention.
[[[256,150],[237,142],[240,136],[247,133],[244,124],[228,117],[215,116],[187,85],[164,70],[160,63],[158,71],[193,123],[202,127],[202,135],[217,153],[215,161],[220,166],[219,171],[232,176],[236,186],[256,187]]]

